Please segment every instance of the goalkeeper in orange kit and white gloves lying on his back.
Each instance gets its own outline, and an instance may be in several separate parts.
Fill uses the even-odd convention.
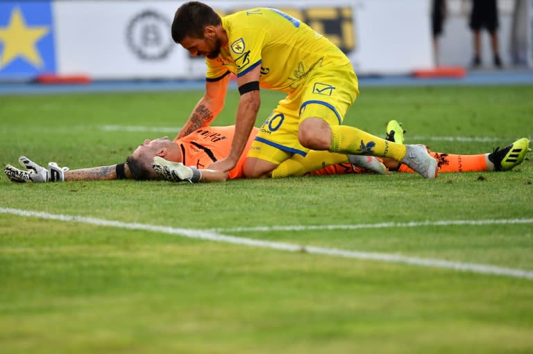
[[[248,150],[257,128],[253,130],[248,139],[247,148],[237,166],[228,172],[209,170],[204,168],[214,161],[222,159],[228,154],[235,126],[205,127],[181,139],[171,141],[167,137],[149,140],[128,156],[126,163],[112,166],[83,168],[69,170],[61,168],[55,162],[49,163],[48,169],[37,165],[27,157],[20,157],[19,163],[28,170],[19,170],[7,165],[4,172],[12,182],[58,182],[58,181],[89,181],[110,179],[167,179],[180,182],[218,182],[226,179],[243,177],[242,166],[246,151]],[[403,129],[396,121],[387,124],[387,137],[389,141],[403,143]],[[530,150],[526,138],[519,139],[505,148],[496,148],[491,153],[474,155],[446,154],[430,152],[437,160],[440,172],[482,172],[511,170],[525,159]],[[313,152],[315,154],[328,154],[331,152]],[[300,175],[334,175],[345,173],[373,172],[385,174],[387,170],[398,172],[414,172],[405,165],[393,159],[381,159],[362,155],[335,154],[337,164],[324,167],[323,163],[311,166],[305,157],[295,155],[285,161],[289,163],[291,176]],[[316,161],[316,159],[313,159]],[[282,163],[283,164],[283,163]],[[282,166],[282,165],[280,165]],[[272,172],[271,177],[285,177],[286,173]]]

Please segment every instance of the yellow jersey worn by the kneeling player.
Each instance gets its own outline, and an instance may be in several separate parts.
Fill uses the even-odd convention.
[[[261,67],[260,87],[296,94],[317,67],[350,63],[342,51],[310,26],[273,8],[255,8],[222,17],[228,46],[206,59],[206,80],[228,73],[243,76]]]

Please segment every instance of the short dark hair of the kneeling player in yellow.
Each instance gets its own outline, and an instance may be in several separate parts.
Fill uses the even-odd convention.
[[[172,22],[172,39],[180,43],[185,36],[203,38],[205,26],[222,23],[220,16],[210,6],[200,1],[184,3],[176,11]]]

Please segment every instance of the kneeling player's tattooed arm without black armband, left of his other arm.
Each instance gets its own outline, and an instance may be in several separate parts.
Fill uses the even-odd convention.
[[[229,81],[230,76],[226,75],[221,80],[205,82],[205,95],[194,107],[189,120],[176,136],[177,139],[195,132],[198,128],[207,127],[214,121],[224,107]]]

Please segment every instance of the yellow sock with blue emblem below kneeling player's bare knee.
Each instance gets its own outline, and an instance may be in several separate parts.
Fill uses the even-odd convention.
[[[331,125],[331,132],[331,152],[390,157],[396,161],[405,157],[405,145],[378,138],[356,127]]]

